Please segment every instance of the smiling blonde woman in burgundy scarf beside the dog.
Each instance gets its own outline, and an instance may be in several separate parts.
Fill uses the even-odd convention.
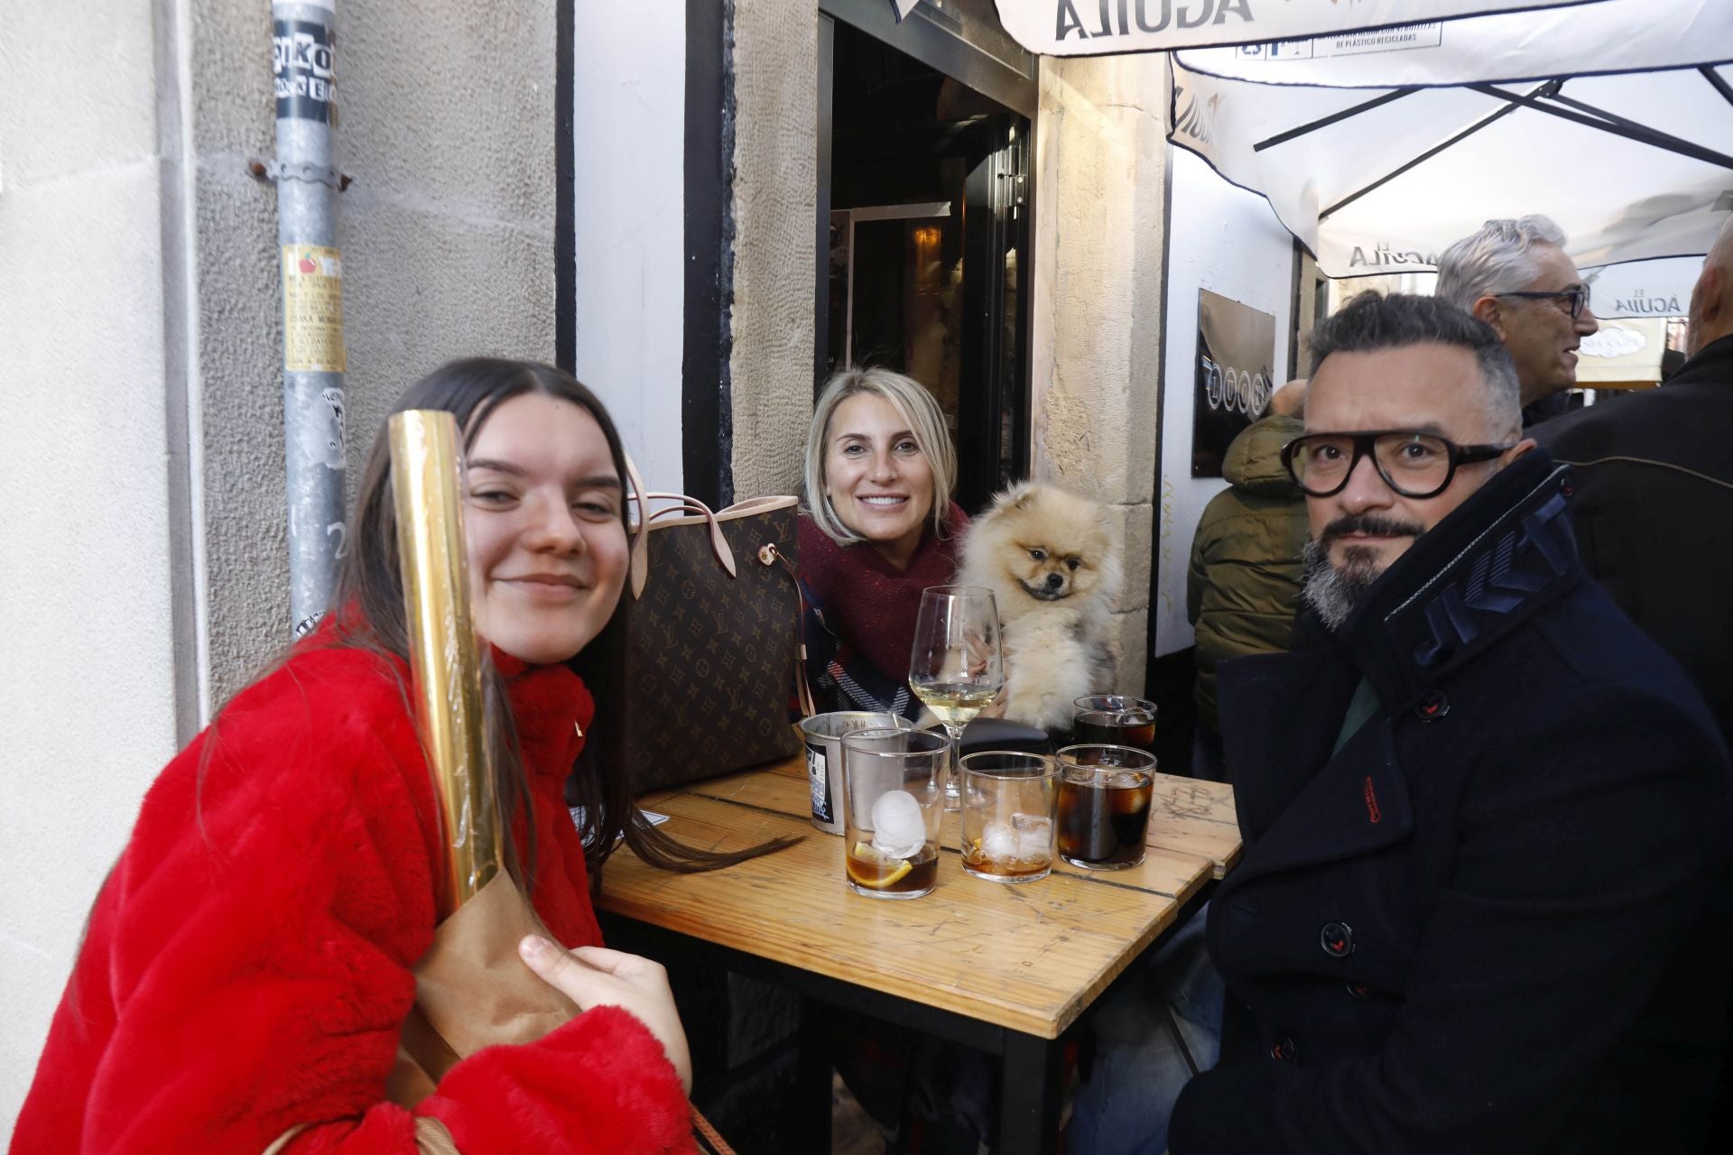
[[[844,369],[806,438],[801,584],[806,670],[820,710],[920,713],[908,689],[920,590],[957,575],[969,518],[957,450],[918,381]]]

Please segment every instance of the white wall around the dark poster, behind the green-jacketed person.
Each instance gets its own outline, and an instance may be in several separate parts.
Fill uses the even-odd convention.
[[[1227,184],[1185,149],[1170,149],[1173,218],[1168,230],[1166,397],[1161,405],[1161,492],[1156,495],[1159,585],[1151,608],[1156,656],[1192,644],[1185,570],[1203,507],[1227,483],[1191,476],[1192,390],[1198,364],[1198,289],[1275,317],[1275,381],[1288,381],[1293,327],[1293,237],[1269,203]]]

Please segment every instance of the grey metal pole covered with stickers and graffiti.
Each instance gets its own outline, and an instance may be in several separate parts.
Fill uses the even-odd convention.
[[[336,0],[270,5],[282,260],[282,436],[295,636],[331,603],[343,523],[343,260],[336,248]]]

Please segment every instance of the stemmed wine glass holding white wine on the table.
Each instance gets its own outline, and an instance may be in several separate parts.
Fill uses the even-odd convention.
[[[951,736],[951,772],[944,776],[944,809],[958,807],[957,755],[964,727],[1005,686],[1005,655],[998,644],[998,604],[981,585],[929,585],[920,590],[915,644],[908,655],[908,687],[927,703]]]

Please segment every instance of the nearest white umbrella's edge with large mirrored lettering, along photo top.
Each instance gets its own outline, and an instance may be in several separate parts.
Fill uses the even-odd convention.
[[[905,0],[896,0],[901,9]],[[996,0],[998,21],[1038,55],[1199,48],[1449,21],[1603,0]],[[915,7],[908,2],[908,7]]]

